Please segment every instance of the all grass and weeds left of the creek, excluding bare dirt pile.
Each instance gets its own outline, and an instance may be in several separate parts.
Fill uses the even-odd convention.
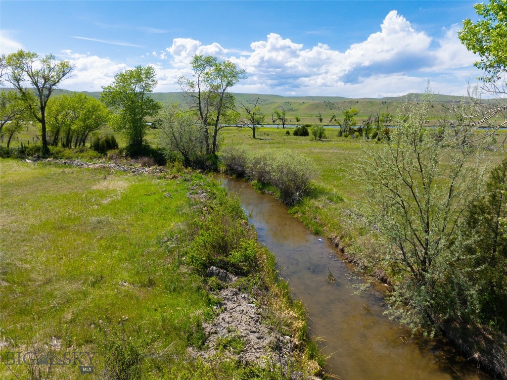
[[[164,179],[14,159],[0,159],[0,170],[0,377],[38,378],[30,369],[45,375],[47,365],[12,365],[9,353],[53,350],[95,353],[95,374],[58,365],[51,378],[99,378],[106,365],[115,378],[281,378],[235,360],[205,363],[187,351],[202,348],[202,323],[218,299],[202,268],[189,266],[186,247],[209,246],[216,240],[209,231],[223,228],[223,240],[249,231],[240,203],[218,183],[192,171]],[[206,209],[187,198],[190,187],[209,194]],[[245,281],[260,279],[250,291],[300,338],[295,367],[321,370],[304,308],[278,282],[274,257],[249,236],[244,246],[257,264]],[[232,264],[242,247],[230,247]],[[240,341],[225,346],[242,349]]]

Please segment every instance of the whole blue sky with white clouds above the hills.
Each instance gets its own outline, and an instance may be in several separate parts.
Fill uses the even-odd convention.
[[[0,2],[0,51],[75,65],[61,87],[100,91],[153,65],[155,91],[178,91],[194,54],[229,59],[248,78],[233,92],[286,96],[466,94],[481,73],[459,42],[477,1]]]

